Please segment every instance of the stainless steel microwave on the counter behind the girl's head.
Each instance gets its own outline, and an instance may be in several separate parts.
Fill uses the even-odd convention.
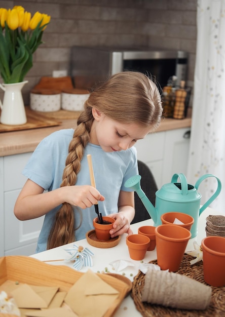
[[[136,70],[155,77],[163,88],[169,77],[177,76],[177,85],[186,81],[187,52],[154,48],[71,48],[70,75],[74,86],[90,89],[110,75]]]

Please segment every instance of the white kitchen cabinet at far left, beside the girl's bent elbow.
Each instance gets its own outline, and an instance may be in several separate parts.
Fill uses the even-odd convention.
[[[20,221],[14,215],[14,205],[19,192],[26,181],[21,172],[31,153],[23,153],[1,157],[0,175],[1,190],[1,245],[0,256],[30,255],[35,253],[37,237],[44,217]],[[0,185],[1,186],[1,185]]]

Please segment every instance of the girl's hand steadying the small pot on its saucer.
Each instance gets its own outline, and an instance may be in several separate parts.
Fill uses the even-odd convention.
[[[123,233],[128,233],[128,235],[133,234],[133,231],[130,228],[130,221],[126,215],[126,211],[110,214],[109,217],[116,219],[113,229],[109,231],[111,238]]]

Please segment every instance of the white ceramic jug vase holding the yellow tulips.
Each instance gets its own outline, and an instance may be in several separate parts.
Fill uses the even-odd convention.
[[[2,110],[0,122],[4,125],[23,125],[27,122],[21,90],[28,81],[15,84],[0,84],[5,92],[3,103],[0,100]]]

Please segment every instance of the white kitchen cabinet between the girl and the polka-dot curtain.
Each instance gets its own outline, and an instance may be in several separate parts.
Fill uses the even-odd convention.
[[[138,160],[151,169],[158,188],[171,182],[175,173],[186,175],[191,128],[148,134],[135,144]]]

